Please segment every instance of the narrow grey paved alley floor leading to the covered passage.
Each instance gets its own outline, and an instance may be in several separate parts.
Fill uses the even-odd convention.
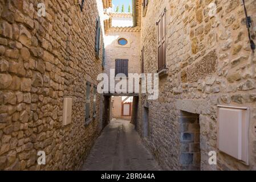
[[[160,167],[141,142],[134,125],[113,119],[96,140],[82,170],[156,171]]]

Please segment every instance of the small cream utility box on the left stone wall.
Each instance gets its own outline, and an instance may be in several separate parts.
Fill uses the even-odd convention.
[[[64,97],[63,126],[70,124],[71,121],[72,121],[72,97]]]

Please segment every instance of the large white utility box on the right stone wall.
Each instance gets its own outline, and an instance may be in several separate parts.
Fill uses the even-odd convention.
[[[246,107],[218,106],[218,148],[249,165],[249,110]]]

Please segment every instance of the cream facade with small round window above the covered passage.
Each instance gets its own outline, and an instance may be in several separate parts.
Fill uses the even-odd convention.
[[[132,2],[133,13],[106,13],[108,18],[104,20],[104,72],[108,76],[110,70],[116,68],[116,59],[128,60],[128,73],[140,73],[141,0]],[[104,9],[112,7],[109,1],[103,1],[103,5]],[[112,24],[112,21],[116,23]],[[120,39],[126,40],[126,44],[119,44]]]

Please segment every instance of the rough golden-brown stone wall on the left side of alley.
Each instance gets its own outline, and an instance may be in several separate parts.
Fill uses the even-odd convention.
[[[37,14],[40,2],[45,17]],[[99,134],[99,94],[96,118],[84,125],[86,81],[97,84],[102,72],[97,5],[86,1],[81,12],[74,2],[0,1],[0,169],[78,169]],[[67,126],[64,96],[73,98]],[[38,151],[46,165],[37,164]]]

